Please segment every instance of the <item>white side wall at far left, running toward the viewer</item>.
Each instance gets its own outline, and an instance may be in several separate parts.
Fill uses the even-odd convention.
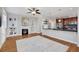
[[[1,38],[0,38],[0,48],[2,47],[2,45],[4,44],[4,42],[6,41],[6,28],[7,28],[7,14],[4,8],[2,8],[2,26],[1,26]]]

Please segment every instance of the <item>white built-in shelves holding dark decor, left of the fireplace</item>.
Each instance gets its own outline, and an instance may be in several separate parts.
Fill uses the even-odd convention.
[[[17,21],[16,18],[8,18],[8,34],[9,35],[15,35],[17,34],[16,30],[17,30]]]

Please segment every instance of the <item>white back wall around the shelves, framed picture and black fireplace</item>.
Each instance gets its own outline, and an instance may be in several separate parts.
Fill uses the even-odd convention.
[[[26,16],[29,18],[29,23],[28,26],[22,26],[22,17]],[[27,28],[29,27],[30,33],[38,33],[41,31],[41,20],[42,17],[40,15],[37,16],[32,16],[32,15],[16,15],[16,14],[11,14],[8,13],[8,27],[7,27],[7,37],[9,36],[16,36],[16,35],[9,35],[9,27],[11,26],[11,21],[9,21],[9,18],[16,18],[16,21],[14,22],[15,27],[16,27],[16,35],[22,35],[22,28]]]

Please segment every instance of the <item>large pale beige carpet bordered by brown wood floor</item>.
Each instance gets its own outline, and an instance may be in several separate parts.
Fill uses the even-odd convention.
[[[17,40],[18,52],[65,52],[68,47],[41,36]]]

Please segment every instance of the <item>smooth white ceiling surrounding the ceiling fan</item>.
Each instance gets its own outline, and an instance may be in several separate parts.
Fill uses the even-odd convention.
[[[59,18],[77,16],[76,7],[36,7],[40,9],[41,16],[44,18]],[[29,15],[27,7],[6,7],[8,13],[17,15]],[[31,15],[31,14],[30,14]]]

